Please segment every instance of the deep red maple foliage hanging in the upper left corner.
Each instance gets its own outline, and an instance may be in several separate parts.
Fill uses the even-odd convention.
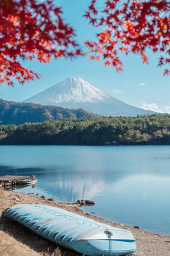
[[[39,75],[26,69],[21,59],[48,63],[56,58],[81,53],[75,32],[62,19],[60,7],[50,0],[0,1],[0,83],[21,84]]]

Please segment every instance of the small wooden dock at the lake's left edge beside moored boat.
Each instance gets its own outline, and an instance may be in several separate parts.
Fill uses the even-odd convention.
[[[26,181],[28,179],[30,179],[30,176],[0,176],[0,184],[2,183],[4,187],[10,187],[19,184],[19,181]]]

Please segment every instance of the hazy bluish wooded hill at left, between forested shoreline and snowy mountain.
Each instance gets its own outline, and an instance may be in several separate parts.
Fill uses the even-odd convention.
[[[75,110],[0,99],[0,125],[19,125],[58,119],[80,119],[83,117],[96,116],[83,109]]]

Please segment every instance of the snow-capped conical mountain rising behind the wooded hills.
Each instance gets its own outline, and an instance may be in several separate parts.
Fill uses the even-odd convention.
[[[81,77],[68,78],[24,102],[64,108],[84,108],[104,116],[136,116],[153,113],[151,110],[130,106],[103,92]]]

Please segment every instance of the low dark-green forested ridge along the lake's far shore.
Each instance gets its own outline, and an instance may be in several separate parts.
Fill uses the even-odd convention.
[[[15,145],[170,145],[170,116],[66,119],[0,125],[0,143]]]

